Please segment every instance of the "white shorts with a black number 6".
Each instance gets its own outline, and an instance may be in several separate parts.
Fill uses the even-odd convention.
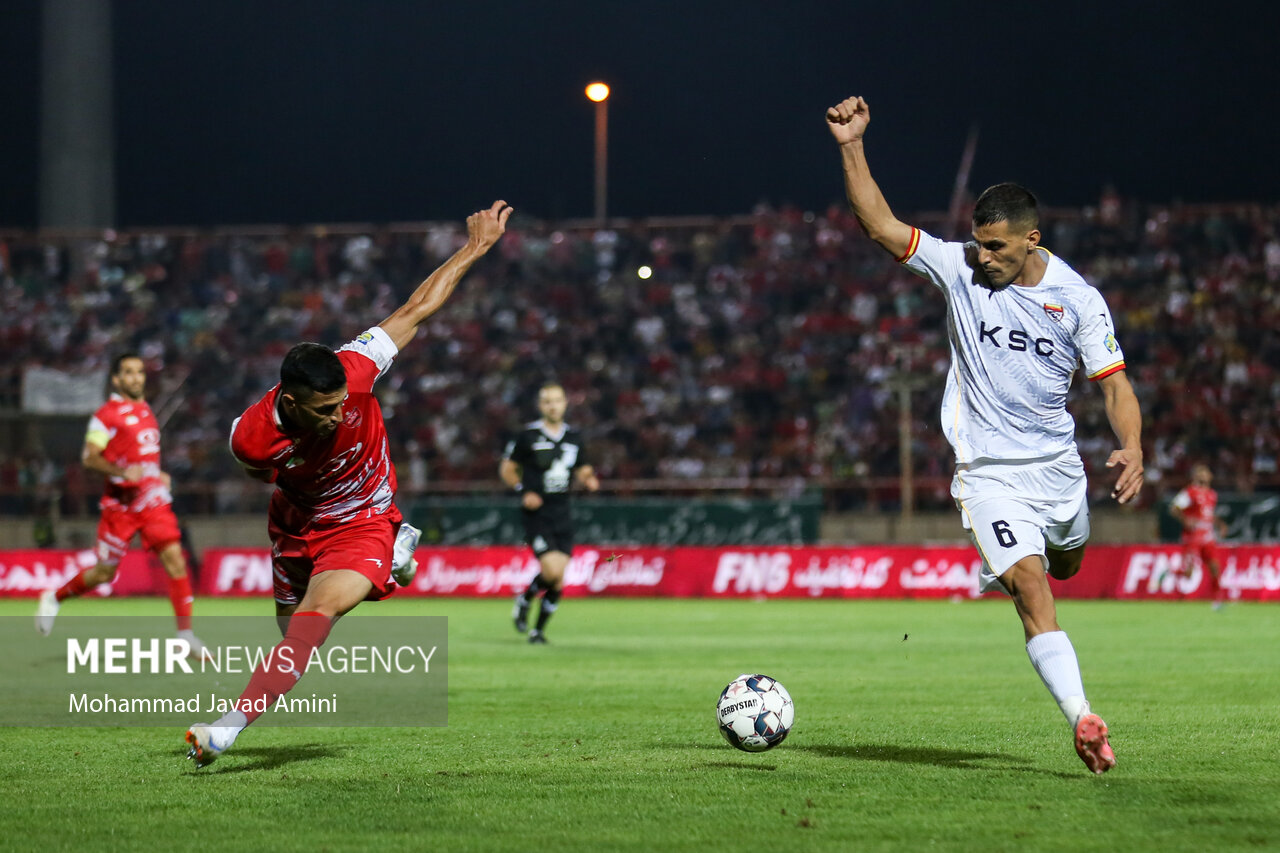
[[[1073,447],[1030,462],[956,466],[951,497],[982,556],[978,590],[1005,590],[1000,576],[1023,557],[1069,551],[1089,538],[1088,484]]]

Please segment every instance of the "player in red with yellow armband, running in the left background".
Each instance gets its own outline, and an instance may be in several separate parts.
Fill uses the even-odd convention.
[[[143,400],[146,365],[134,352],[111,361],[111,396],[88,421],[82,461],[84,467],[106,476],[99,506],[97,565],[68,580],[56,592],[46,589],[36,606],[36,630],[47,635],[61,602],[82,596],[115,578],[120,558],[134,533],[142,544],[160,557],[169,575],[169,601],[173,602],[178,637],[187,640],[193,654],[205,644],[191,631],[191,578],[182,553],[182,533],[173,514],[169,475],[160,470],[160,425]]]

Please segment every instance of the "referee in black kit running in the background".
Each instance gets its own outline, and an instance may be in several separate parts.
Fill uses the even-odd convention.
[[[507,443],[498,466],[502,482],[521,492],[525,542],[541,567],[529,588],[516,596],[512,611],[516,630],[524,634],[529,629],[529,608],[541,593],[543,606],[538,611],[538,625],[529,631],[530,643],[547,642],[547,621],[559,606],[564,588],[564,567],[573,552],[570,485],[576,479],[588,492],[600,488],[595,469],[586,462],[581,433],[564,423],[567,407],[564,388],[556,383],[539,388],[541,420],[529,424]]]

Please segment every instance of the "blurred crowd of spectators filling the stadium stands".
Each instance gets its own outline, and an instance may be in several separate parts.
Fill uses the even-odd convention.
[[[941,218],[918,218],[940,233]],[[1144,410],[1147,500],[1208,462],[1224,489],[1275,485],[1280,207],[1123,204],[1050,211],[1043,245],[1103,291]],[[6,405],[32,365],[83,374],[142,353],[177,491],[232,510],[230,419],[297,341],[339,346],[383,320],[465,238],[461,223],[276,233],[131,233],[0,242]],[[639,272],[652,270],[648,278]],[[506,437],[558,379],[607,487],[759,479],[891,507],[900,387],[920,506],[947,505],[938,428],[945,301],[842,209],[608,228],[516,220],[494,256],[380,383],[410,492],[498,488]],[[424,336],[428,337],[428,336]],[[1114,447],[1101,394],[1071,411],[1094,497]],[[27,447],[0,493],[86,494],[78,461]],[[868,488],[867,484],[886,484]]]

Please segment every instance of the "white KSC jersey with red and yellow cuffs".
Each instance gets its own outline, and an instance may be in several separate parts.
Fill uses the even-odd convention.
[[[1034,287],[983,283],[974,243],[911,229],[899,259],[947,297],[951,371],[942,430],[961,464],[1038,460],[1075,447],[1066,392],[1076,365],[1097,380],[1124,370],[1111,311],[1097,288],[1044,248]]]

